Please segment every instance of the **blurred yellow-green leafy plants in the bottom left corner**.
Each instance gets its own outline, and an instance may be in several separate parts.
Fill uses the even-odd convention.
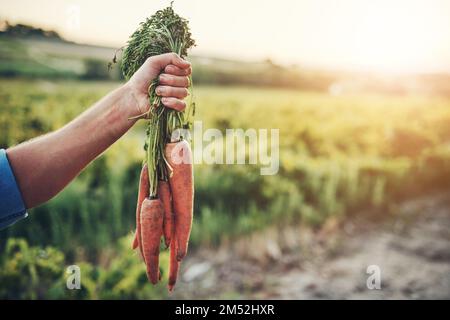
[[[25,239],[10,238],[0,260],[0,299],[158,299],[167,296],[164,285],[150,286],[145,268],[129,250],[130,237],[117,241],[108,266],[76,263],[81,288],[69,290],[64,254],[54,247],[30,247]],[[166,277],[167,253],[161,255]]]

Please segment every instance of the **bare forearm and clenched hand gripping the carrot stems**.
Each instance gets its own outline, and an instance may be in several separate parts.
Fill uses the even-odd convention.
[[[163,104],[183,110],[191,65],[174,53],[162,54],[147,59],[125,85],[64,127],[7,150],[27,208],[61,191],[89,162],[133,126],[136,120],[129,118],[149,110],[148,86],[161,71],[158,94],[163,97]],[[68,152],[70,161],[67,161]]]

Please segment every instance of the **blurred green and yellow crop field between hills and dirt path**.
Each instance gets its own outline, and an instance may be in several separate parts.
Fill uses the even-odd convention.
[[[0,80],[0,147],[61,127],[118,85]],[[204,129],[280,129],[280,169],[196,165],[193,256],[268,228],[318,232],[364,211],[395,214],[400,201],[450,185],[449,98],[201,85],[195,99]],[[139,124],[0,233],[1,298],[167,298],[130,249],[143,137]],[[65,289],[71,264],[83,290]]]

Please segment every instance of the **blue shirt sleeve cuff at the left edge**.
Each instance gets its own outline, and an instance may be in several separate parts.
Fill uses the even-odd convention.
[[[27,216],[6,151],[0,149],[0,230]]]

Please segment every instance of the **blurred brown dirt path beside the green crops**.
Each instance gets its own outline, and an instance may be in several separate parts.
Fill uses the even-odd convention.
[[[198,252],[174,298],[450,299],[450,193],[393,211]],[[367,288],[370,265],[381,272],[380,290]]]

